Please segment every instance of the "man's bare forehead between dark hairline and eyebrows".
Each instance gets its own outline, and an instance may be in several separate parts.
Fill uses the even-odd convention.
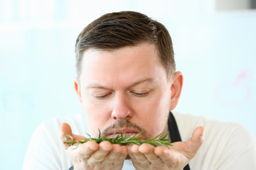
[[[154,44],[142,43],[118,50],[87,50],[83,55],[82,84],[128,86],[133,81],[159,79],[166,72]]]

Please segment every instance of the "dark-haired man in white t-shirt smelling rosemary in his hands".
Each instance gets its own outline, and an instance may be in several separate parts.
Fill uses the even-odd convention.
[[[170,112],[183,76],[161,23],[132,11],[108,13],[82,30],[75,54],[75,91],[84,114],[43,123],[23,169],[256,169],[255,137],[245,128]],[[173,146],[70,146],[58,137],[60,131],[82,140],[85,132],[97,137],[98,130],[102,137],[143,132],[144,140],[170,132]]]

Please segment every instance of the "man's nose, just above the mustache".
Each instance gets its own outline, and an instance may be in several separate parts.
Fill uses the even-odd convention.
[[[115,96],[112,118],[114,120],[132,118],[132,109],[129,106],[129,99],[126,96],[120,94]]]

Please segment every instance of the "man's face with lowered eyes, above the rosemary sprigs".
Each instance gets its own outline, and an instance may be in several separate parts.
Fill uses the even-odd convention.
[[[87,50],[75,81],[92,137],[121,130],[152,138],[167,130],[171,81],[156,47],[142,43],[119,50]]]

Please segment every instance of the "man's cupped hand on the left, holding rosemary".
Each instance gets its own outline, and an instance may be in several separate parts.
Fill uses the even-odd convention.
[[[63,123],[61,125],[62,135],[67,134],[73,137],[73,140],[82,140],[85,137],[74,135],[70,125]],[[67,137],[68,138],[68,137]],[[63,147],[68,152],[68,156],[73,163],[75,170],[80,169],[122,169],[124,159],[127,157],[127,147],[117,144],[112,145],[105,141],[85,142],[83,144],[70,146],[63,143]]]

